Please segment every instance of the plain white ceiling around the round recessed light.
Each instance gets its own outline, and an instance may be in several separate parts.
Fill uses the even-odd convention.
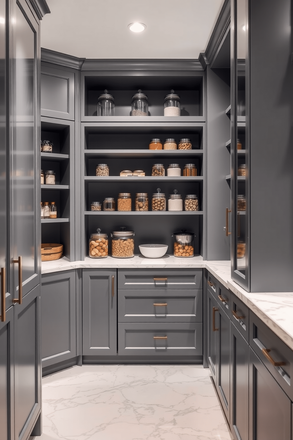
[[[47,0],[41,47],[80,58],[195,59],[224,0]],[[132,22],[145,23],[132,33]]]

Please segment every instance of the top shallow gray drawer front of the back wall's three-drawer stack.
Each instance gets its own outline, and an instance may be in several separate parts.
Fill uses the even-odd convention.
[[[202,289],[203,269],[122,269],[118,289]]]

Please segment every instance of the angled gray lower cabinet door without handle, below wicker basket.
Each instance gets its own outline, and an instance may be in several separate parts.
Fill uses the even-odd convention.
[[[42,367],[76,356],[75,270],[42,275]]]

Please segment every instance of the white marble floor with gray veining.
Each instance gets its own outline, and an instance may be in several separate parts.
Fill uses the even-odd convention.
[[[36,440],[230,440],[209,370],[83,365],[43,378]]]

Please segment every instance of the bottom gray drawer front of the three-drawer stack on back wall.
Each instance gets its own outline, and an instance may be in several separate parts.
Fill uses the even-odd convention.
[[[118,354],[202,356],[202,323],[119,323]]]

